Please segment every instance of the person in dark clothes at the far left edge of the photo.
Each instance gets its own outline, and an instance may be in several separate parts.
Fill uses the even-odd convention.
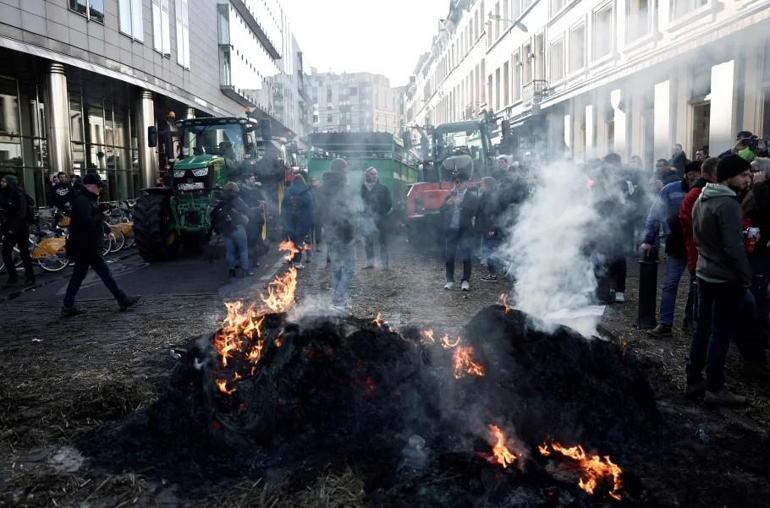
[[[13,286],[18,282],[16,267],[13,264],[13,248],[18,246],[19,255],[24,263],[24,275],[26,283],[35,284],[35,272],[32,269],[32,259],[29,255],[29,224],[31,218],[27,216],[27,195],[19,187],[14,175],[5,175],[0,180],[0,210],[3,212],[2,237],[3,237],[3,263],[8,271],[6,286]]]

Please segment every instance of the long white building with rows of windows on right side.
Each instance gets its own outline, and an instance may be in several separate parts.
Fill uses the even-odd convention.
[[[493,111],[521,149],[578,160],[719,153],[770,136],[769,28],[767,0],[454,1],[407,122]]]

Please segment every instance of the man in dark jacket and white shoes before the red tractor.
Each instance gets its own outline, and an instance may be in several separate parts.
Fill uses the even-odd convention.
[[[479,210],[479,198],[474,189],[468,188],[468,175],[462,171],[454,176],[454,188],[441,206],[444,223],[444,257],[446,284],[444,289],[454,288],[455,256],[459,253],[463,261],[463,278],[460,287],[470,290],[471,254],[476,240],[475,221]]]

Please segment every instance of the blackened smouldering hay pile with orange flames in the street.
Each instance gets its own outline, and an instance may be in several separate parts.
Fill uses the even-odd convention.
[[[657,412],[614,344],[500,305],[462,337],[379,315],[290,321],[295,286],[294,271],[273,282],[266,313],[228,305],[151,409],[155,433],[253,475],[352,463],[374,503],[638,500],[620,464]]]

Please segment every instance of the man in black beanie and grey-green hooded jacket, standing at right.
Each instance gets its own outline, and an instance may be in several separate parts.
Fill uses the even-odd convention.
[[[745,397],[725,388],[724,366],[730,340],[739,326],[750,326],[755,320],[739,201],[750,182],[751,166],[746,160],[738,155],[722,159],[717,166],[717,183],[706,184],[692,212],[698,249],[698,319],[687,363],[687,394],[704,395],[710,404],[746,402]],[[705,384],[701,377],[704,367]]]

